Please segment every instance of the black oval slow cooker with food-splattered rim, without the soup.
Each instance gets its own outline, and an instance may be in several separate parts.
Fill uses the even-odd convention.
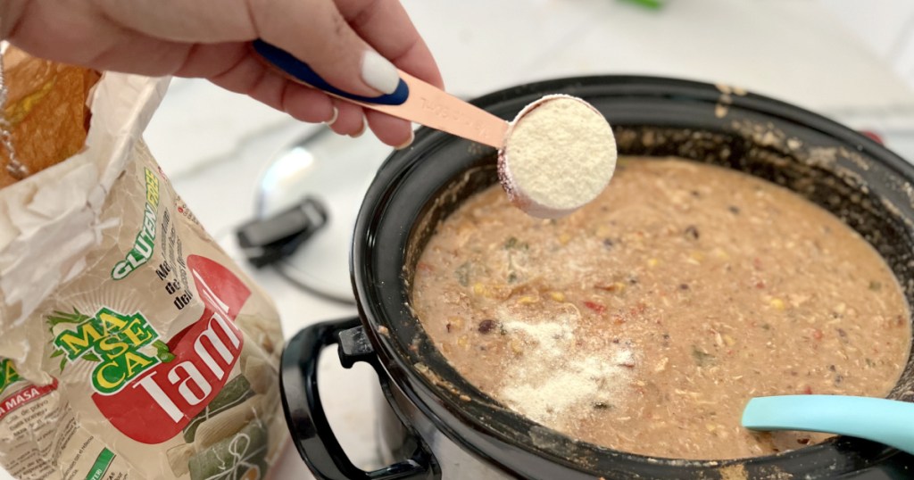
[[[549,80],[474,104],[505,120],[550,93],[589,101],[613,125],[620,155],[675,155],[788,187],[856,229],[885,258],[914,304],[914,167],[812,112],[726,85],[633,76]],[[409,308],[413,269],[438,222],[496,180],[495,151],[422,129],[377,172],[359,211],[350,272],[359,315],[305,328],[282,356],[282,404],[303,460],[328,479],[909,478],[914,457],[835,437],[755,458],[685,461],[583,443],[527,420],[448,364]],[[611,187],[611,186],[610,186]],[[365,472],[335,440],[317,387],[321,351],[367,362],[384,399],[388,466]],[[890,398],[914,398],[914,359]],[[914,428],[914,427],[912,427]]]

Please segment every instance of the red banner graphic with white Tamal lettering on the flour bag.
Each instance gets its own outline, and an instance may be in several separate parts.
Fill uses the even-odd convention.
[[[172,337],[175,359],[150,368],[112,395],[92,400],[115,428],[142,443],[163,443],[181,432],[226,384],[244,336],[235,325],[250,289],[227,268],[187,257],[203,315]]]

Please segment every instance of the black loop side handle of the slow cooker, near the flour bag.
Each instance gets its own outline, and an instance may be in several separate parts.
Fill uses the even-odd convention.
[[[304,463],[319,480],[408,480],[433,478],[430,453],[419,448],[413,458],[366,472],[352,464],[327,421],[317,389],[317,360],[321,351],[339,343],[339,334],[361,325],[359,318],[322,322],[304,328],[282,351],[282,410],[292,441]],[[373,352],[371,352],[373,354]],[[377,357],[357,360],[380,375]],[[346,368],[351,365],[345,365]]]

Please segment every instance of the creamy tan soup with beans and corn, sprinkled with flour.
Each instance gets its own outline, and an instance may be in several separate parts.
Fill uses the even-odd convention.
[[[530,218],[498,186],[471,197],[423,251],[412,306],[513,410],[685,459],[823,440],[739,417],[755,396],[885,396],[911,343],[898,283],[855,231],[782,187],[675,159],[625,159],[564,219]]]

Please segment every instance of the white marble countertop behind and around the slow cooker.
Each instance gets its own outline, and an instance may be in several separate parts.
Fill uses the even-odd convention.
[[[668,0],[659,11],[620,0],[403,3],[460,96],[589,74],[724,82],[884,133],[890,147],[914,156],[914,94],[815,0]],[[314,128],[205,81],[174,80],[146,140],[197,218],[237,256],[232,231],[253,213],[255,179]],[[355,314],[269,269],[250,273],[276,301],[287,337]],[[324,404],[356,464],[373,464],[374,373],[335,363],[321,367]],[[295,453],[278,468],[278,479],[312,478]]]

